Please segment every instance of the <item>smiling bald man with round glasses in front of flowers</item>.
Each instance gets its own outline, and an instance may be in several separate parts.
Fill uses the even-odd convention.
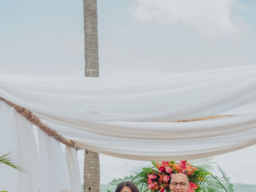
[[[172,192],[187,192],[190,188],[188,177],[183,173],[176,173],[171,178],[170,190]]]

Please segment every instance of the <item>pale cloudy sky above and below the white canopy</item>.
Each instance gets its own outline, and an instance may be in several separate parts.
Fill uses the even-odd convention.
[[[251,0],[98,0],[100,76],[255,65],[255,18]],[[84,76],[82,0],[0,0],[0,34],[1,73]],[[232,182],[256,184],[255,149],[214,161]],[[82,158],[80,151],[81,165]],[[142,162],[100,155],[101,183],[136,164]]]

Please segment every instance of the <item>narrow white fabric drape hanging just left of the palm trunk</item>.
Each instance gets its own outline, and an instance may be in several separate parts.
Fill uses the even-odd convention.
[[[81,178],[76,149],[66,146],[65,157],[68,163],[72,192],[81,192]]]

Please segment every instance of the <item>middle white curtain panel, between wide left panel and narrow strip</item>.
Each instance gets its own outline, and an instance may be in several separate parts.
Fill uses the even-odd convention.
[[[71,192],[68,164],[60,142],[38,130],[40,192]]]

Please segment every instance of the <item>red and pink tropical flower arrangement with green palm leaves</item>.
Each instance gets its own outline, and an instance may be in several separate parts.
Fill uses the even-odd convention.
[[[183,173],[188,176],[190,188],[188,192],[233,192],[226,173],[218,166],[221,177],[214,176],[212,158],[202,158],[190,161],[151,162],[150,165],[137,167],[132,175],[123,179],[114,179],[110,184],[117,185],[122,181],[132,181],[140,192],[170,192],[169,184],[172,176]]]

